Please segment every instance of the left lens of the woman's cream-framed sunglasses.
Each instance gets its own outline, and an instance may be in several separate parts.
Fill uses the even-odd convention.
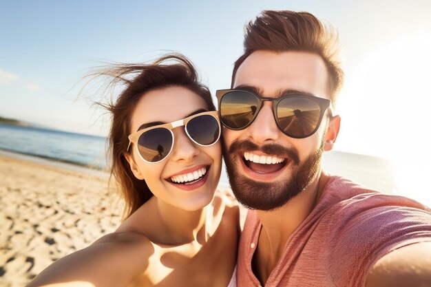
[[[138,139],[138,151],[149,162],[165,158],[172,148],[172,134],[169,129],[156,128],[145,131]]]

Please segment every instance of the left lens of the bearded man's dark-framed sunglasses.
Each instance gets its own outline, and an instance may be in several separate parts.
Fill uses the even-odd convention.
[[[259,100],[244,91],[233,91],[224,94],[220,100],[220,118],[230,129],[243,129],[253,120]]]

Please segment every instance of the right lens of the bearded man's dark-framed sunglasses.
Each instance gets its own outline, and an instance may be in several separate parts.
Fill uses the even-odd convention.
[[[320,107],[310,98],[285,98],[277,105],[277,118],[284,134],[306,138],[319,124]]]

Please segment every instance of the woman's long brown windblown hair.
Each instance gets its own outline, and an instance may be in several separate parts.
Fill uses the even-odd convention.
[[[195,67],[181,54],[167,54],[154,63],[144,65],[114,64],[89,76],[108,76],[110,81],[107,87],[112,87],[112,90],[118,89],[119,85],[125,86],[116,100],[98,103],[112,116],[108,137],[111,178],[115,178],[118,189],[125,199],[123,216],[125,219],[153,195],[144,180],[135,178],[124,156],[129,144],[127,136],[132,134],[131,117],[138,100],[150,90],[179,85],[201,96],[209,110],[215,110],[215,106],[209,89],[200,83]],[[175,101],[175,95],[172,95],[172,100]]]

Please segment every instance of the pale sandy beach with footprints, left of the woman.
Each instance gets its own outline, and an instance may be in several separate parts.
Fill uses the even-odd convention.
[[[25,286],[56,259],[120,223],[101,173],[0,154],[0,286]]]

